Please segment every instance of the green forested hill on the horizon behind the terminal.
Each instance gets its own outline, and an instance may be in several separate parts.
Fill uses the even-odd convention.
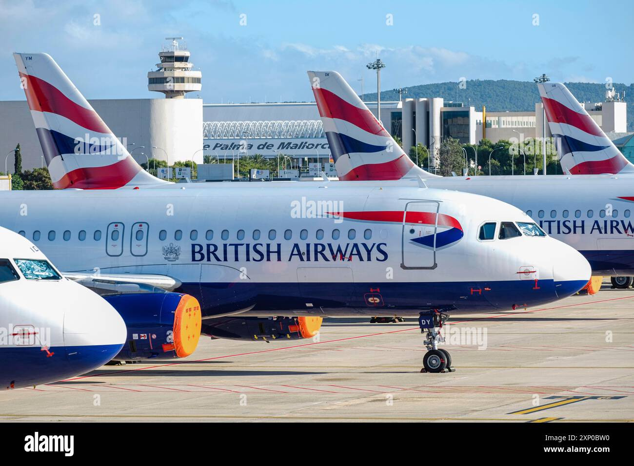
[[[535,109],[535,103],[540,100],[540,94],[534,82],[527,81],[499,81],[475,79],[466,82],[465,89],[460,89],[457,82],[437,82],[435,84],[420,84],[409,86],[408,92],[403,94],[407,98],[442,97],[445,101],[463,102],[482,108],[486,105],[489,112],[526,112]],[[581,102],[602,102],[605,100],[605,84],[592,82],[566,82],[571,93]],[[618,93],[626,92],[626,97],[634,96],[634,84],[614,84]],[[364,100],[377,100],[377,93],[364,94]],[[382,91],[381,100],[398,100],[398,91]],[[628,101],[628,131],[634,131],[634,98]]]

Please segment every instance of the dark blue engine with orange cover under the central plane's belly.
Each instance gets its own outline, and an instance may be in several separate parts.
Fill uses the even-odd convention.
[[[203,335],[228,340],[301,340],[313,338],[321,317],[220,317],[206,319]]]

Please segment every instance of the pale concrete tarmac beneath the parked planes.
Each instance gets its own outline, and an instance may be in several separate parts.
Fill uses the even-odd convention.
[[[420,373],[417,321],[324,321],[316,339],[201,337],[185,359],[0,394],[0,421],[634,422],[634,289],[461,314],[456,372]]]

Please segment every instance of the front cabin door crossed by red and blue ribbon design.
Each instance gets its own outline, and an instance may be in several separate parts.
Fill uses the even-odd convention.
[[[411,201],[405,205],[401,268],[435,269],[438,210],[436,201]]]

